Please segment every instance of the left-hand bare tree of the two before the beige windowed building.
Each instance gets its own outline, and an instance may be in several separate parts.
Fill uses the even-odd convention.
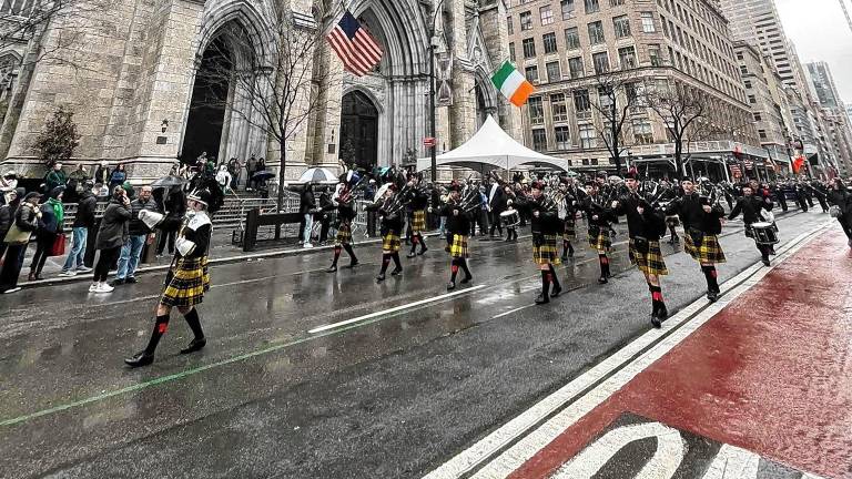
[[[621,172],[621,155],[626,145],[621,142],[625,123],[630,118],[630,109],[638,102],[635,75],[630,71],[604,72],[595,75],[598,101],[590,101],[592,108],[600,114],[602,124],[595,123],[599,136],[609,151],[616,165],[616,172]]]

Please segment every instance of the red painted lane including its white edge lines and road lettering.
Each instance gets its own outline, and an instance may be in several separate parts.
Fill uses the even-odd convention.
[[[565,397],[473,477],[852,478],[852,254],[834,228],[779,254],[500,428]]]

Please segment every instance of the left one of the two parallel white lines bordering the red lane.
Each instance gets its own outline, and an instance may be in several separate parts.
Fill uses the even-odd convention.
[[[790,252],[792,251],[791,248],[793,246],[795,246],[795,251],[799,251],[799,248],[801,248],[803,244],[799,245],[797,242],[802,242],[805,237],[812,234],[819,233],[824,227],[825,226],[823,225],[812,230],[810,233],[804,233],[800,235],[799,237],[794,238],[793,241],[784,245],[782,248],[779,248],[779,253],[783,253],[784,248],[787,248],[788,252]],[[774,262],[774,265],[780,264],[780,261],[781,261],[781,257],[778,257]],[[723,283],[722,291],[724,293],[728,293],[731,289],[732,285],[754,274],[754,272],[757,272],[761,267],[762,265],[755,264],[750,268],[747,268],[736,277]],[[767,268],[767,272],[769,271],[770,269]],[[722,304],[724,305],[727,305],[727,302],[724,300],[727,296],[728,296],[727,294],[722,296]],[[425,478],[427,479],[458,478],[465,473],[470,472],[473,469],[478,467],[481,462],[487,460],[495,452],[505,448],[506,446],[511,444],[514,440],[516,440],[518,437],[527,432],[531,427],[538,424],[541,419],[550,416],[556,410],[561,408],[565,404],[575,399],[584,390],[592,386],[595,383],[599,381],[601,378],[611,374],[613,370],[622,367],[625,363],[627,363],[630,358],[639,354],[639,351],[641,351],[642,349],[647,348],[648,346],[657,342],[658,338],[661,335],[663,335],[666,332],[672,328],[676,328],[680,326],[682,323],[684,323],[686,320],[688,320],[704,305],[707,305],[707,300],[701,298],[696,300],[691,305],[684,307],[677,315],[674,315],[673,317],[669,318],[666,323],[663,323],[661,330],[650,330],[645,335],[640,336],[632,343],[621,348],[618,353],[609,356],[607,359],[605,359],[597,366],[592,367],[590,370],[588,370],[584,375],[577,377],[572,381],[561,387],[556,393],[544,398],[542,400],[537,402],[535,406],[532,406],[528,410],[521,412],[520,415],[511,419],[509,422],[507,422],[503,427],[493,431],[491,434],[489,434],[488,436],[486,436],[485,438],[476,442],[474,446],[471,446],[467,450],[458,453],[449,461],[439,466],[437,469],[435,469],[434,471],[425,476]],[[608,397],[608,395],[600,397],[600,399],[602,400],[606,397]],[[549,444],[549,441],[546,444]],[[538,449],[540,449],[540,447]]]

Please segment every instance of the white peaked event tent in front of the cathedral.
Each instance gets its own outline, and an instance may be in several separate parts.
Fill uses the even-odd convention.
[[[568,162],[530,150],[508,135],[488,116],[474,136],[462,146],[437,156],[438,166],[462,166],[484,172],[494,169],[517,170],[520,165],[547,165],[568,171]],[[432,167],[432,159],[418,159],[417,171]]]

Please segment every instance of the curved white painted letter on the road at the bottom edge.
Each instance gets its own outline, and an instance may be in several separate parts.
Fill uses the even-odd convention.
[[[683,461],[687,446],[677,429],[660,422],[646,422],[612,429],[560,467],[551,478],[591,479],[625,446],[650,437],[657,438],[657,449],[636,478],[671,479]]]

